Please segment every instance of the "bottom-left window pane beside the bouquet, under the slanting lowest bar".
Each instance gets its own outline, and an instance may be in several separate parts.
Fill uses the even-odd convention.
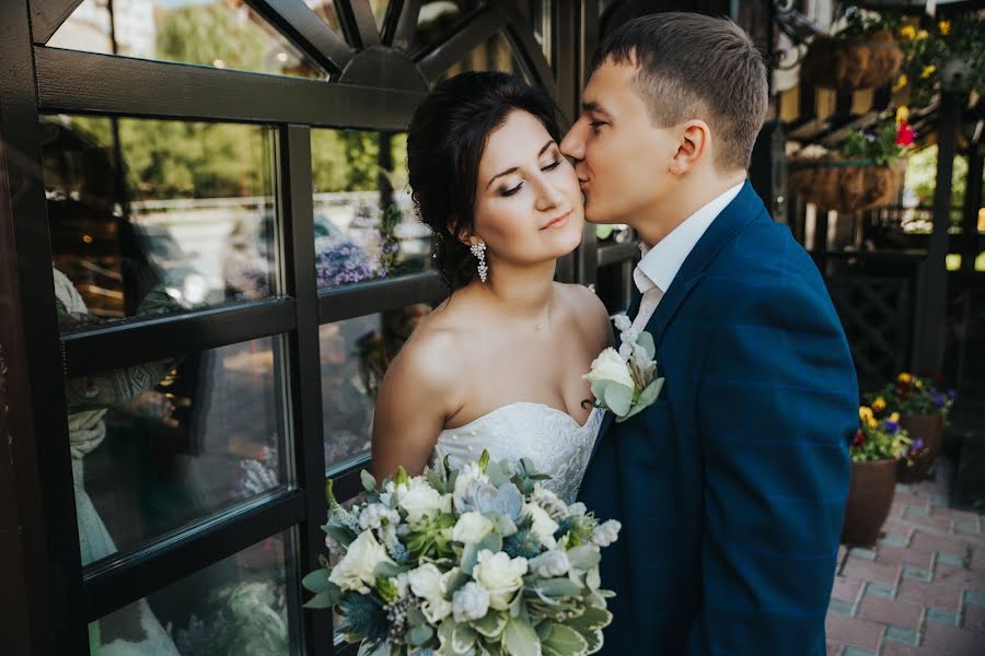
[[[93,655],[287,656],[300,609],[281,534],[89,625]]]

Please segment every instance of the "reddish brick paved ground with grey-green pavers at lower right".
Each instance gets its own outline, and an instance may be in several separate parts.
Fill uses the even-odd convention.
[[[896,485],[879,543],[839,551],[828,656],[985,655],[985,513],[948,507],[951,471]]]

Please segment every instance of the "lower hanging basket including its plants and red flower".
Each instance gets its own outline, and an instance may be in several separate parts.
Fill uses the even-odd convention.
[[[790,189],[823,210],[860,212],[892,203],[903,186],[903,157],[916,133],[900,108],[853,130],[834,150],[811,145],[790,159]]]

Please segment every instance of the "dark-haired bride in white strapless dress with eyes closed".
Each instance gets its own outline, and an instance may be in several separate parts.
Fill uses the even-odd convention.
[[[451,296],[415,330],[380,387],[373,473],[417,475],[487,449],[530,458],[573,501],[602,423],[582,374],[612,342],[588,289],[554,282],[584,221],[556,109],[506,73],[463,73],[418,107],[413,197]]]

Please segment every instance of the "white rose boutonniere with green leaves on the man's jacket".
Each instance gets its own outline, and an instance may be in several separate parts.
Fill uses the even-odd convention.
[[[595,407],[625,421],[652,405],[663,387],[657,376],[657,347],[649,332],[637,333],[626,315],[614,317],[622,345],[605,349],[583,376],[592,385]]]

